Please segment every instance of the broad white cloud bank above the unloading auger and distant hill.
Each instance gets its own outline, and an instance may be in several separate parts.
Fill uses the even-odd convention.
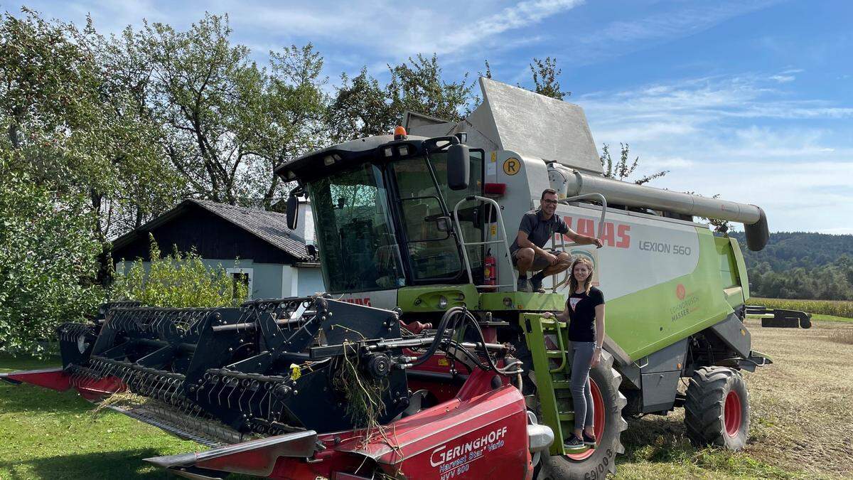
[[[853,108],[792,99],[769,82],[759,74],[682,79],[577,103],[599,144],[630,143],[637,173],[670,170],[653,186],[754,203],[773,231],[847,228]]]

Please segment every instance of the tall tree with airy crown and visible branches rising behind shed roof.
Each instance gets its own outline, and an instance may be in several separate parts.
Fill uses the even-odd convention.
[[[322,56],[293,45],[261,68],[231,33],[227,15],[207,14],[187,31],[146,22],[125,31],[125,63],[140,72],[131,85],[160,126],[183,195],[270,208],[287,190],[275,168],[324,139]]]

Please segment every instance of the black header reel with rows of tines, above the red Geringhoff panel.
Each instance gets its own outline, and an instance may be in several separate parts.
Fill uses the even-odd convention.
[[[472,320],[466,310],[451,309],[438,331],[401,337],[396,312],[314,296],[239,308],[119,305],[108,308],[101,325],[62,325],[60,333],[74,386],[124,394],[130,406],[107,403],[178,436],[221,445],[294,430],[361,428],[349,390],[363,384],[375,385],[381,406],[374,421],[385,424],[409,407],[405,369],[438,349],[503,373],[507,367],[502,371],[487,352],[506,354],[507,347],[451,337]],[[426,351],[413,353],[418,348]],[[357,378],[345,377],[346,367]]]

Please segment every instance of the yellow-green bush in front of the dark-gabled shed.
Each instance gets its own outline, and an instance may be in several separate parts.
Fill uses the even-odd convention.
[[[235,282],[222,266],[208,269],[195,251],[182,254],[175,249],[162,256],[154,236],[150,240],[148,268],[142,260],[123,263],[123,271],[115,275],[114,298],[178,308],[229,307],[246,300],[247,286]]]

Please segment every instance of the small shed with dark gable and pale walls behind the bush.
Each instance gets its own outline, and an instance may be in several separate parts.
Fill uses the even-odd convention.
[[[310,204],[299,208],[300,218],[310,219]],[[113,260],[147,263],[151,233],[164,254],[174,245],[182,252],[194,248],[207,266],[223,266],[236,281],[248,284],[250,298],[306,296],[325,288],[316,250],[309,246],[313,225],[299,223],[299,231],[292,231],[284,214],[189,199],[117,238]]]

